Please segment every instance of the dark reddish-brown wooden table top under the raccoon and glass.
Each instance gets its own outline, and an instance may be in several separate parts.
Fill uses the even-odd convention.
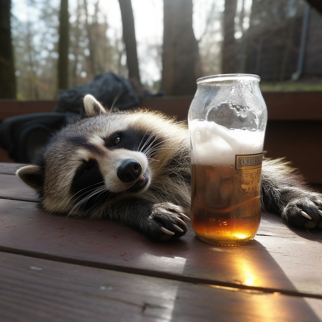
[[[0,321],[321,321],[322,231],[262,213],[254,241],[189,226],[155,243],[119,223],[44,213],[0,163]]]

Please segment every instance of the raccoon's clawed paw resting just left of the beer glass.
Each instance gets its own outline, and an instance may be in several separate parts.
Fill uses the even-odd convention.
[[[156,241],[181,237],[187,232],[184,220],[190,221],[182,207],[171,203],[154,204],[148,217],[147,234]]]

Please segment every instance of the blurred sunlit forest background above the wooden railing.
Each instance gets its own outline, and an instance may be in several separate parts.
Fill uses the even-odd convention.
[[[55,99],[108,71],[167,95],[236,72],[262,90],[322,90],[321,1],[308,2],[1,0],[0,98]]]

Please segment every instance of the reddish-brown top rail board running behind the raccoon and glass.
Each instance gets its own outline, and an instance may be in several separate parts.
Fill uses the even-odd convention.
[[[263,92],[269,120],[322,120],[322,92]],[[186,120],[193,96],[146,97],[140,106]],[[51,112],[56,101],[0,101],[0,120],[16,115]]]

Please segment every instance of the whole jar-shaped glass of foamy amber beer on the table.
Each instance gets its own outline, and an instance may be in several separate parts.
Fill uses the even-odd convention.
[[[191,223],[204,242],[242,245],[258,230],[267,121],[259,81],[251,74],[197,80],[188,115]]]

